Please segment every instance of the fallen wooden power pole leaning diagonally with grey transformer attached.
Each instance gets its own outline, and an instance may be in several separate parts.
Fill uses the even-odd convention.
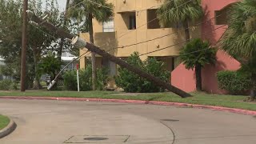
[[[105,50],[101,50],[98,46],[94,46],[94,45],[90,44],[89,42],[86,42],[82,38],[75,36],[74,34],[67,33],[66,31],[59,29],[58,27],[52,25],[49,22],[43,22],[43,20],[41,18],[38,18],[36,15],[34,15],[34,13],[32,13],[29,10],[28,10],[28,13],[30,13],[31,21],[41,24],[42,26],[46,27],[46,29],[53,31],[55,34],[57,34],[61,38],[72,39],[72,44],[74,46],[77,46],[79,48],[86,47],[86,49],[90,50],[91,52],[94,52],[98,55],[101,55],[103,58],[107,58],[110,61],[115,62],[119,66],[122,66],[123,68],[126,68],[127,70],[130,70],[134,74],[138,74],[142,78],[146,78],[150,82],[154,82],[154,84],[157,86],[161,86],[162,88],[165,88],[166,90],[170,90],[174,94],[178,94],[182,98],[192,96],[192,95],[186,93],[185,91],[178,89],[175,86],[171,86],[167,82],[163,82],[159,78],[154,77],[152,74],[148,74],[145,71],[140,70],[135,66],[131,66],[127,62],[123,61],[121,58],[117,58],[114,55],[107,53]]]

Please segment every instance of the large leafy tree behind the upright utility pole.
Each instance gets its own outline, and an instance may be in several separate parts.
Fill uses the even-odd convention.
[[[63,14],[58,11],[57,1],[47,1],[46,6],[47,10],[50,11],[47,21],[54,25],[62,23]],[[42,8],[41,0],[31,0],[29,9],[33,10],[39,17],[46,15],[46,10]],[[19,78],[22,47],[22,0],[0,0],[0,14],[0,56],[5,59],[8,66],[14,69],[16,78]],[[34,88],[38,89],[41,76],[37,69],[38,62],[49,50],[58,50],[56,49],[58,47],[58,38],[50,36],[54,35],[54,33],[44,27],[32,25],[28,25],[27,35],[26,83],[33,83],[35,80]]]

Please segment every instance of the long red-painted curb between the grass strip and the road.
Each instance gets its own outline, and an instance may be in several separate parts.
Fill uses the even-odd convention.
[[[150,104],[150,105],[159,105],[159,106],[186,106],[191,108],[199,109],[209,109],[209,110],[218,110],[226,111],[236,114],[247,114],[247,115],[256,115],[256,111],[253,110],[242,110],[234,109],[222,106],[204,106],[188,103],[179,103],[179,102],[155,102],[155,101],[140,101],[140,100],[122,100],[122,99],[102,99],[102,98],[53,98],[53,97],[16,97],[16,96],[1,96],[0,99],[25,99],[25,100],[59,100],[59,101],[80,101],[80,102],[119,102],[119,103],[134,103],[134,104]]]

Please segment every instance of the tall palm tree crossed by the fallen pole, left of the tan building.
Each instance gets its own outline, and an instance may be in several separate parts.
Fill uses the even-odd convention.
[[[68,10],[69,16],[75,18],[78,22],[85,20],[90,34],[90,43],[94,43],[93,18],[98,22],[106,22],[113,17],[113,4],[107,3],[106,0],[76,0],[71,3]],[[96,56],[91,54],[92,61],[92,84],[93,90],[96,90]]]

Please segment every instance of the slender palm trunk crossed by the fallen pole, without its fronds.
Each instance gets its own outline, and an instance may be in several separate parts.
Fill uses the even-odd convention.
[[[93,27],[93,15],[88,15],[89,22],[89,34],[90,34],[90,43],[94,44],[94,27]],[[91,53],[91,66],[92,66],[92,84],[93,90],[96,90],[96,54]]]

